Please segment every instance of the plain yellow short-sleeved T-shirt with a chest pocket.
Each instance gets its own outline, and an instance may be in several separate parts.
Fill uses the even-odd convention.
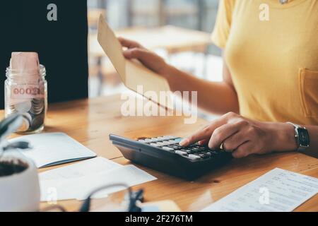
[[[221,0],[212,40],[242,116],[318,125],[318,0]]]

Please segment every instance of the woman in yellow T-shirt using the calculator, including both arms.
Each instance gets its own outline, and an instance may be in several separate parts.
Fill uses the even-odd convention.
[[[127,59],[164,76],[172,90],[198,91],[199,107],[225,114],[181,145],[208,143],[246,157],[318,152],[317,37],[318,0],[220,1],[212,39],[223,49],[222,83],[179,71],[139,43],[119,41]]]

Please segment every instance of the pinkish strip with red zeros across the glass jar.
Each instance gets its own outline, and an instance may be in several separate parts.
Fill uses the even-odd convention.
[[[12,99],[44,98],[43,85],[11,85]]]

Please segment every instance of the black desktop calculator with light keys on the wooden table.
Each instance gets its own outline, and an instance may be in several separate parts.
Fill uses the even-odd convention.
[[[184,148],[179,145],[181,140],[176,136],[160,136],[133,141],[110,135],[110,141],[126,159],[187,180],[197,179],[232,159],[231,153],[198,143]]]

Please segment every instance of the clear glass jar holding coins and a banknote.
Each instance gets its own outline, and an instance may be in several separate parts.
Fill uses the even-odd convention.
[[[23,115],[17,133],[39,133],[44,129],[47,114],[47,81],[45,66],[39,70],[17,71],[6,69],[5,116]]]

